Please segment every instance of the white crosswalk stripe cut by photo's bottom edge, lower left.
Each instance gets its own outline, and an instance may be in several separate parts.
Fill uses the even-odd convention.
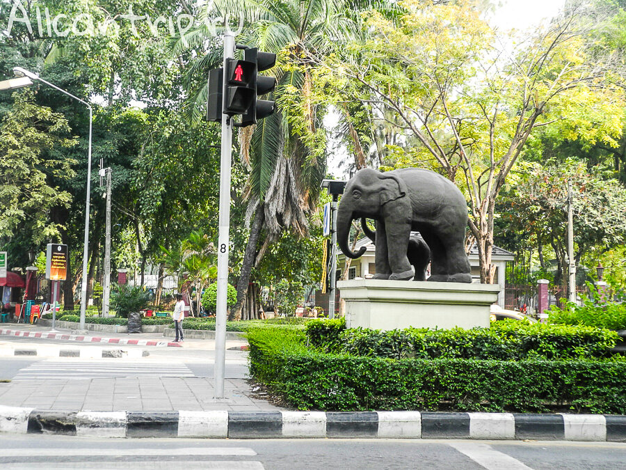
[[[243,461],[180,461],[173,462],[20,462],[11,463],[13,470],[29,469],[120,469],[120,470],[154,470],[171,469],[172,467],[185,470],[264,470],[261,462]]]

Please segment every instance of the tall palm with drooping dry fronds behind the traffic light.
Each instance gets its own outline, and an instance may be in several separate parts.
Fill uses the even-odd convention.
[[[246,297],[252,266],[258,264],[269,244],[283,228],[307,233],[307,213],[314,210],[319,198],[320,183],[326,171],[326,153],[313,148],[312,139],[321,127],[324,109],[312,104],[312,76],[315,57],[324,56],[340,43],[358,35],[358,10],[370,8],[372,0],[216,0],[218,13],[243,11],[248,29],[237,39],[266,52],[283,53],[282,61],[271,72],[278,80],[273,98],[281,102],[286,93],[298,90],[298,99],[305,104],[299,116],[307,123],[305,129],[294,126],[290,109],[281,109],[259,121],[252,129],[240,133],[241,155],[249,165],[246,186],[250,237],[237,283],[237,303],[232,317],[240,315]],[[378,2],[388,6],[391,2]],[[186,41],[199,46],[206,41],[206,27],[190,31]],[[184,52],[179,40],[174,47]],[[218,66],[222,52],[215,49],[191,63],[190,75]],[[297,65],[296,67],[292,65]],[[188,81],[191,83],[191,79]],[[200,118],[207,100],[206,84],[202,84],[188,101],[188,116]],[[306,134],[306,135],[303,135]],[[265,231],[264,242],[257,249],[259,237]]]

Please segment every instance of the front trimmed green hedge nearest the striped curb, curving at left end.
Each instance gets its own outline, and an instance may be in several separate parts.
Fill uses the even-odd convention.
[[[305,342],[300,331],[248,332],[250,373],[297,409],[626,414],[626,361],[398,360]]]

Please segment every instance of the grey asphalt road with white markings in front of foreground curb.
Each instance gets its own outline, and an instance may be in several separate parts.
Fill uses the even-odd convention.
[[[626,444],[408,439],[87,439],[0,435],[11,469],[623,469]]]

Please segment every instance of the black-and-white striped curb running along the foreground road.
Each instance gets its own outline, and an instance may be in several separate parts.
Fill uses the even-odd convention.
[[[626,416],[428,412],[54,412],[0,406],[0,432],[88,437],[626,442]]]

